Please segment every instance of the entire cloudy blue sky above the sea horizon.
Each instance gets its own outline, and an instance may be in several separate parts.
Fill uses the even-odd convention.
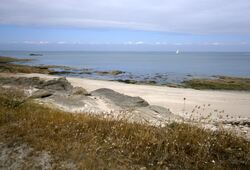
[[[0,50],[250,51],[249,0],[0,0]]]

